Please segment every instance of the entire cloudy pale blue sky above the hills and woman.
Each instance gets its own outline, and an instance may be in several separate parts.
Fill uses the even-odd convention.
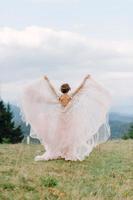
[[[112,109],[133,114],[132,0],[0,2],[0,91],[13,101],[22,85],[47,74],[59,86],[92,74]]]

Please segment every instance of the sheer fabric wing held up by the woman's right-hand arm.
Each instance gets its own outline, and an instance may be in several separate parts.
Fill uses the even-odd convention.
[[[97,144],[106,142],[111,135],[108,112],[111,95],[100,83],[89,78],[84,87],[66,107],[72,123],[76,124],[77,156],[83,159]]]

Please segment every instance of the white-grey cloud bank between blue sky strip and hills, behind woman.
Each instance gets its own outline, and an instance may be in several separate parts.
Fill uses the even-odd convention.
[[[84,74],[91,73],[118,102],[118,97],[133,96],[133,41],[101,41],[36,26],[5,27],[0,29],[0,72],[7,97],[15,98],[23,80],[42,74],[78,85]]]

